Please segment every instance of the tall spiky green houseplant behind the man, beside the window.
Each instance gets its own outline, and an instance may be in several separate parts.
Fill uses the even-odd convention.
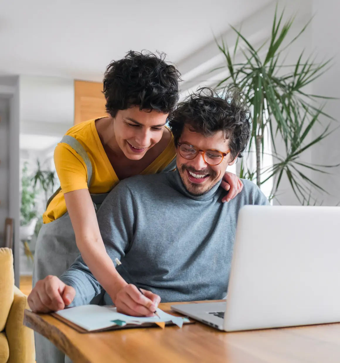
[[[287,42],[287,35],[294,18],[290,18],[284,24],[282,19],[283,12],[278,18],[276,9],[271,36],[258,49],[255,49],[241,32],[233,27],[237,33],[233,50],[229,50],[223,41],[221,44],[217,42],[229,71],[229,76],[219,82],[217,88],[237,87],[250,109],[252,134],[249,152],[255,149],[256,168],[248,170],[242,162],[241,177],[256,179],[259,187],[270,178],[275,178],[271,191],[273,197],[278,191],[282,175],[286,174],[296,197],[301,204],[304,204],[306,200],[311,200],[312,189],[326,192],[306,175],[306,170],[327,173],[327,168],[335,167],[335,165],[319,166],[300,160],[304,151],[332,132],[329,131],[329,127],[334,119],[325,114],[323,107],[317,103],[320,99],[331,99],[331,97],[309,94],[305,89],[328,69],[330,60],[316,64],[310,56],[303,61],[302,51],[295,64],[284,64],[284,56],[290,46],[306,30],[309,23],[292,37],[290,42]],[[284,43],[287,45],[283,45]],[[235,62],[235,56],[239,52],[244,57],[243,62]],[[312,127],[319,122],[320,115],[328,119],[327,126],[323,127],[323,131],[317,137],[311,138]],[[273,166],[264,170],[261,162],[265,131],[270,135],[274,162]],[[283,155],[276,150],[278,138],[284,145]],[[266,175],[264,180],[261,178],[262,175]]]

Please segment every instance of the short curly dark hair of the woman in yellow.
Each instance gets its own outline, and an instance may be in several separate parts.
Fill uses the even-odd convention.
[[[139,106],[140,110],[173,111],[179,100],[180,73],[165,61],[164,53],[133,52],[112,61],[104,75],[106,111],[115,117],[118,110]]]

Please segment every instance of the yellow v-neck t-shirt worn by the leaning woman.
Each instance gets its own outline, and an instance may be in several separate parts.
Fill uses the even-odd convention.
[[[52,199],[42,219],[52,222],[67,211],[64,193],[78,189],[89,189],[90,193],[107,193],[119,183],[104,151],[95,120],[79,123],[69,129],[66,135],[73,136],[85,149],[92,164],[92,179],[87,187],[87,171],[83,159],[65,143],[59,143],[54,150],[54,164],[60,180],[61,191]],[[173,136],[165,150],[140,174],[156,174],[162,171],[176,156]]]

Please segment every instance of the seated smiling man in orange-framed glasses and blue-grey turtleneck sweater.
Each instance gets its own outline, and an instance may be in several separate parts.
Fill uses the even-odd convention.
[[[177,170],[120,182],[97,214],[109,256],[119,258],[145,291],[146,296],[127,285],[115,297],[131,315],[152,315],[160,300],[221,299],[239,210],[269,204],[248,180],[232,201],[221,201],[222,176],[242,156],[250,137],[248,113],[237,95],[222,98],[201,89],[179,104],[169,125]],[[101,290],[79,256],[60,279],[39,281],[28,301],[33,311],[47,312],[88,304]],[[108,294],[104,303],[112,303]]]

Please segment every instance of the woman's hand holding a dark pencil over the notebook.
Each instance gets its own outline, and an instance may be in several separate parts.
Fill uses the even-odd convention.
[[[116,263],[121,265],[118,258]],[[122,287],[115,296],[114,304],[117,311],[131,316],[153,316],[160,303],[160,297],[151,291],[140,289],[123,265],[122,269],[126,272],[130,284]]]

